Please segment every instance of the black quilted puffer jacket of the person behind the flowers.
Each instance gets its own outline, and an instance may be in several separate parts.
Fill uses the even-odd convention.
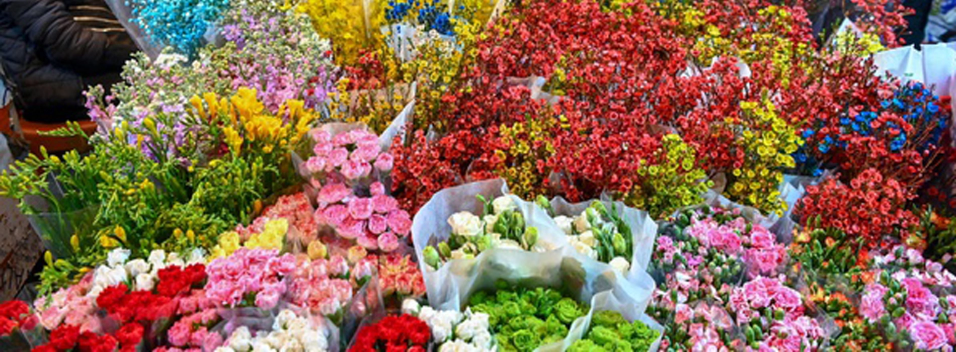
[[[0,0],[0,63],[26,120],[81,119],[82,92],[119,81],[135,50],[103,0]]]

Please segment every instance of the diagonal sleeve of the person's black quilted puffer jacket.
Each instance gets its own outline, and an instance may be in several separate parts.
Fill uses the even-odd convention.
[[[87,70],[121,67],[133,48],[114,43],[105,33],[76,23],[62,3],[52,0],[6,0],[5,11],[17,27],[57,64]]]

